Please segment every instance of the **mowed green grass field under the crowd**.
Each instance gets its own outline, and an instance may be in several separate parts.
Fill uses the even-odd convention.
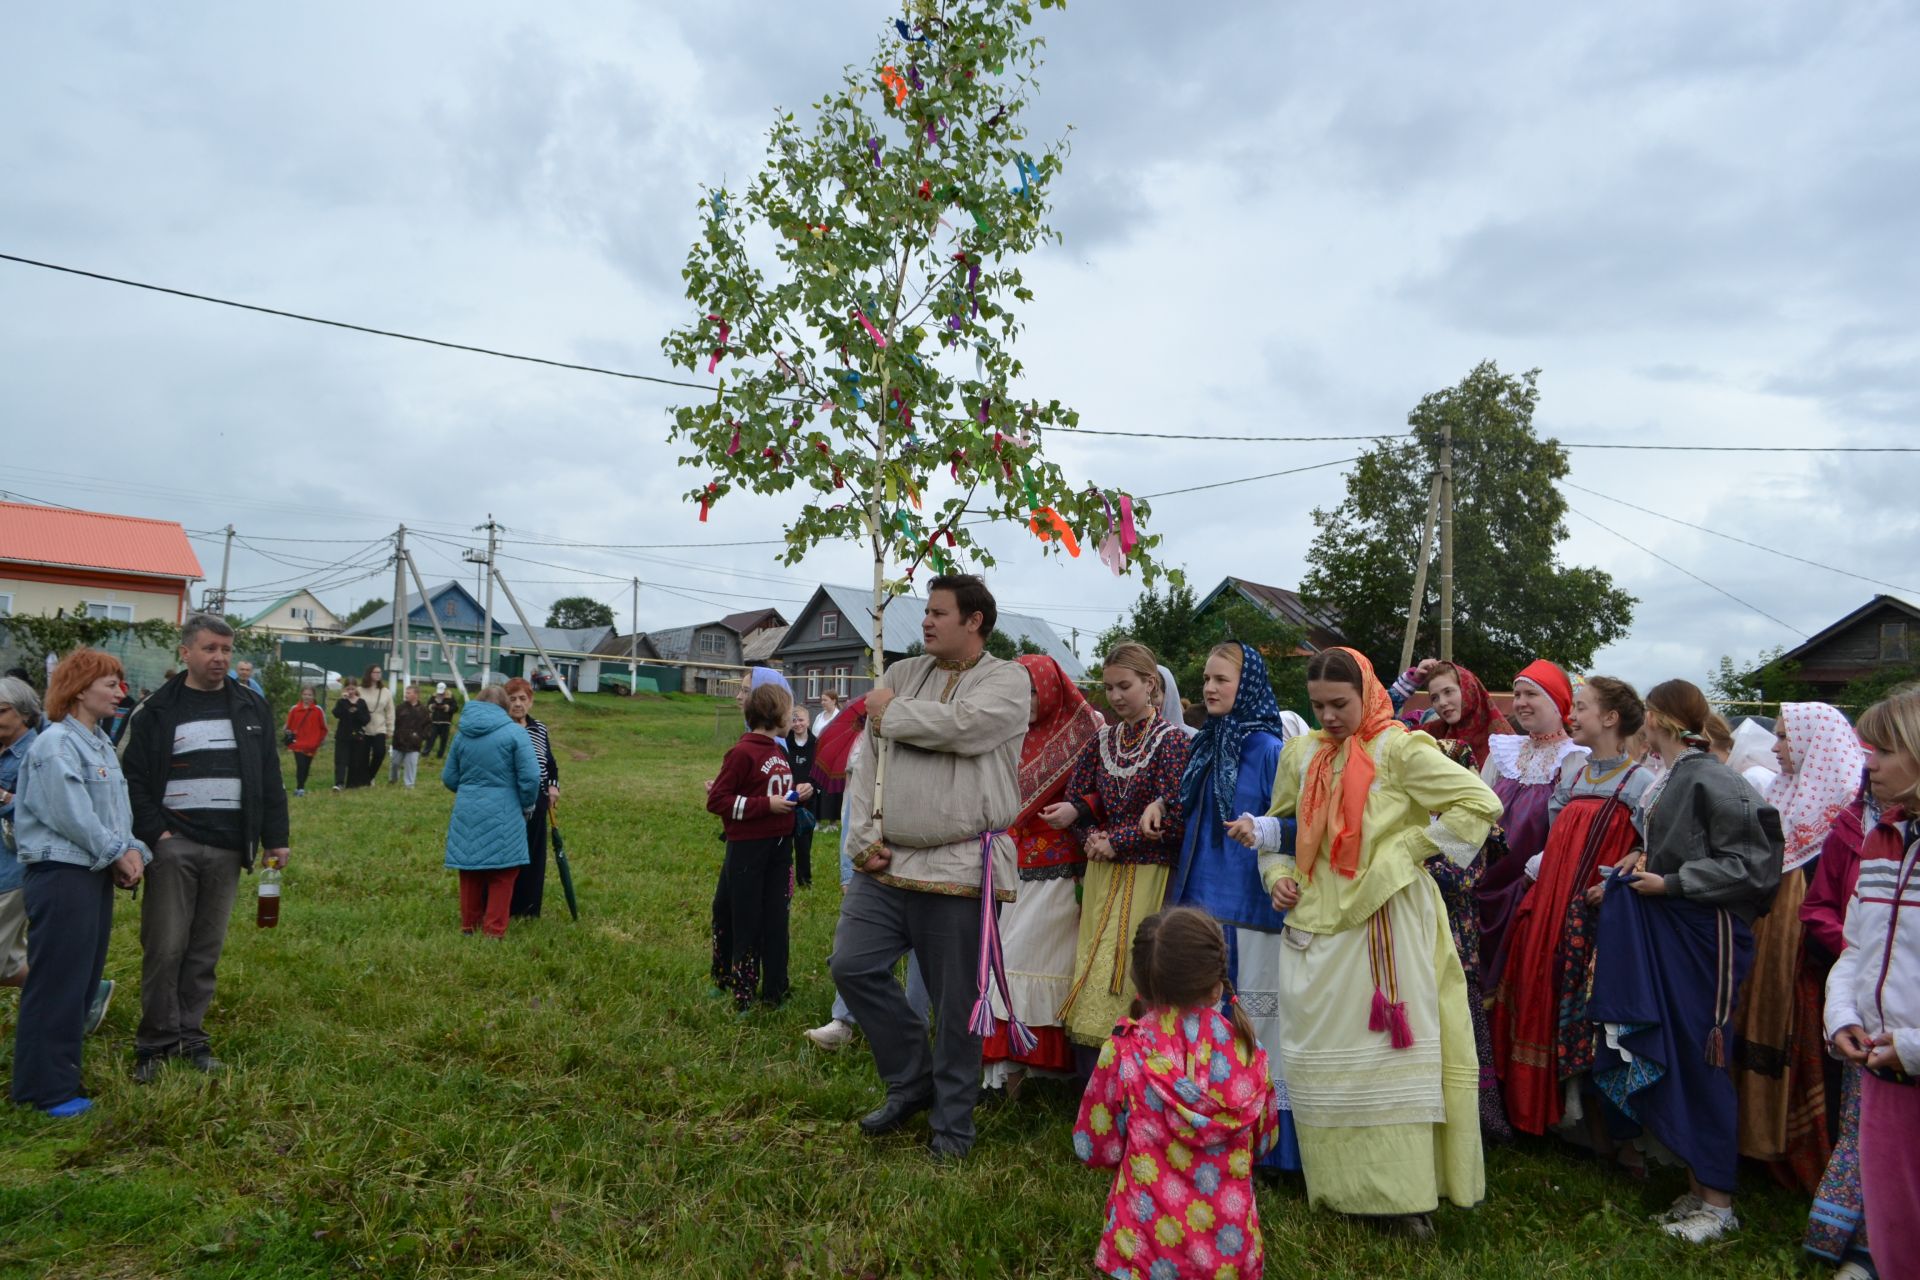
[[[831,1000],[829,848],[793,906],[793,1002],[741,1021],[707,996],[720,844],[701,783],[730,704],[541,695],[538,714],[582,919],[549,875],[545,919],[505,944],[459,936],[438,771],[415,793],[323,789],[294,802],[276,931],[253,927],[242,883],[209,1021],[232,1071],[136,1088],[138,908],[121,898],[94,1113],[0,1107],[0,1272],[1092,1274],[1110,1174],[1071,1159],[1071,1090],[983,1109],[952,1171],[924,1128],[854,1132],[872,1059],[801,1038]],[[12,1019],[0,996],[0,1063]],[[1442,1211],[1419,1247],[1308,1211],[1298,1180],[1263,1188],[1267,1274],[1805,1274],[1805,1201],[1757,1173],[1745,1230],[1711,1247],[1647,1222],[1684,1190],[1672,1171],[1628,1184],[1540,1142],[1492,1151],[1488,1174],[1488,1201]]]

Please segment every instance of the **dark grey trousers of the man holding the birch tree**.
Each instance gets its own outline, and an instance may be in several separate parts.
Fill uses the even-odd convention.
[[[912,952],[933,998],[927,1019],[914,1013],[893,965]],[[933,1134],[972,1146],[979,1102],[981,1038],[968,1031],[979,994],[979,898],[914,892],[854,875],[833,931],[833,986],[866,1032],[874,1067],[889,1098],[927,1098]]]

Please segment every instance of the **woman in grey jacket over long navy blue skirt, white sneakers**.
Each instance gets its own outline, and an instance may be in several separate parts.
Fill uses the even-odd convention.
[[[1782,852],[1780,814],[1707,754],[1711,714],[1684,679],[1647,693],[1647,741],[1667,773],[1642,800],[1645,854],[1603,890],[1586,1009],[1603,1025],[1594,1084],[1688,1167],[1692,1186],[1661,1222],[1690,1244],[1740,1226],[1728,1050]]]

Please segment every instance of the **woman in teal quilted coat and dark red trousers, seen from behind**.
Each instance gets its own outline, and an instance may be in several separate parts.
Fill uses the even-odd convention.
[[[453,793],[447,865],[461,873],[461,933],[505,938],[513,881],[526,865],[526,816],[540,798],[540,764],[497,687],[476,693],[461,712],[440,781]]]

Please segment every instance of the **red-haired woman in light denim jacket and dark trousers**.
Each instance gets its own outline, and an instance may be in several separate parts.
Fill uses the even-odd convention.
[[[132,835],[132,804],[102,723],[127,691],[121,664],[77,649],[46,683],[46,718],[19,768],[13,835],[27,894],[27,986],[13,1032],[13,1102],[81,1115],[81,1036],[113,927],[113,887],[154,860]]]

